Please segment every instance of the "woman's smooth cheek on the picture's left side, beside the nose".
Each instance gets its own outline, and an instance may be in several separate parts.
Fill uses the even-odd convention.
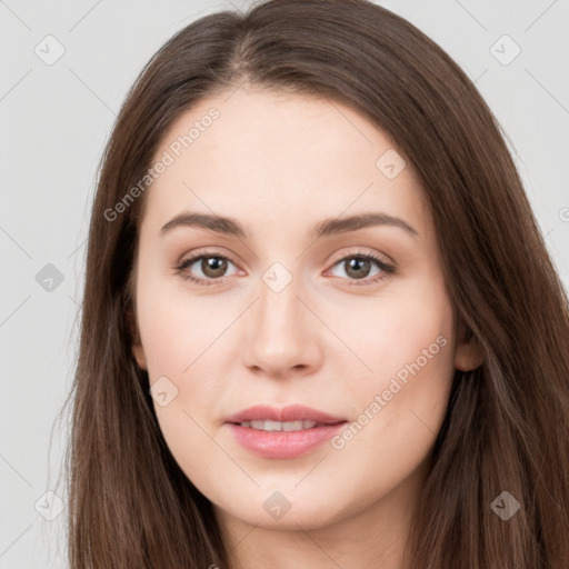
[[[186,473],[199,478],[208,468],[190,457],[214,450],[206,431],[222,389],[216,350],[234,311],[220,309],[219,300],[216,308],[213,297],[191,298],[177,288],[147,279],[137,289],[139,326],[160,430]]]

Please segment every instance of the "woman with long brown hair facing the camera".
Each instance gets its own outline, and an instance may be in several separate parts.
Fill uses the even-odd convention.
[[[567,567],[567,296],[496,119],[400,17],[178,32],[86,277],[73,569]]]

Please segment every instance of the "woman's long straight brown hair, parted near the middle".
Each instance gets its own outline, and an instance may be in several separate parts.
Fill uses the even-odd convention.
[[[211,503],[166,446],[130,348],[144,194],[113,220],[106,211],[143,178],[173,120],[243,82],[327,97],[391,136],[430,204],[457,318],[482,347],[479,368],[455,373],[409,567],[567,568],[568,299],[500,126],[452,59],[387,9],[270,0],[171,38],[128,93],[102,157],[69,396],[71,569],[232,566]],[[520,503],[507,521],[491,508],[502,491]]]

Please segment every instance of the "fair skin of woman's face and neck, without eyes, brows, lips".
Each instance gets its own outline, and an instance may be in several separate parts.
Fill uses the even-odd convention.
[[[409,162],[393,179],[377,168],[393,143],[355,110],[250,86],[229,94],[181,114],[156,152],[157,161],[219,110],[144,196],[132,352],[150,385],[167,377],[178,389],[167,406],[154,401],[160,428],[243,567],[401,569],[455,369],[481,363],[453,319],[431,213]],[[234,218],[248,237],[197,227],[160,236],[186,210]],[[398,217],[419,237],[389,226],[310,237],[325,218],[365,211]],[[176,272],[206,248],[232,259],[226,272],[216,278],[200,260],[184,272],[216,284]],[[382,272],[371,262],[358,280],[346,262],[358,251],[397,272],[370,282]],[[274,262],[292,277],[280,292],[262,279]],[[340,450],[326,442],[295,459],[262,458],[224,425],[258,403],[358,421],[440,337],[446,346]],[[274,491],[291,505],[278,520],[263,508]]]

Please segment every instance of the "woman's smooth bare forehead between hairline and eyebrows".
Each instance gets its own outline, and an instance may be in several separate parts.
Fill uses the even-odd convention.
[[[391,138],[321,97],[244,88],[208,97],[170,126],[152,166],[160,161],[146,196],[151,224],[182,209],[283,224],[383,209],[423,223],[412,167]]]

